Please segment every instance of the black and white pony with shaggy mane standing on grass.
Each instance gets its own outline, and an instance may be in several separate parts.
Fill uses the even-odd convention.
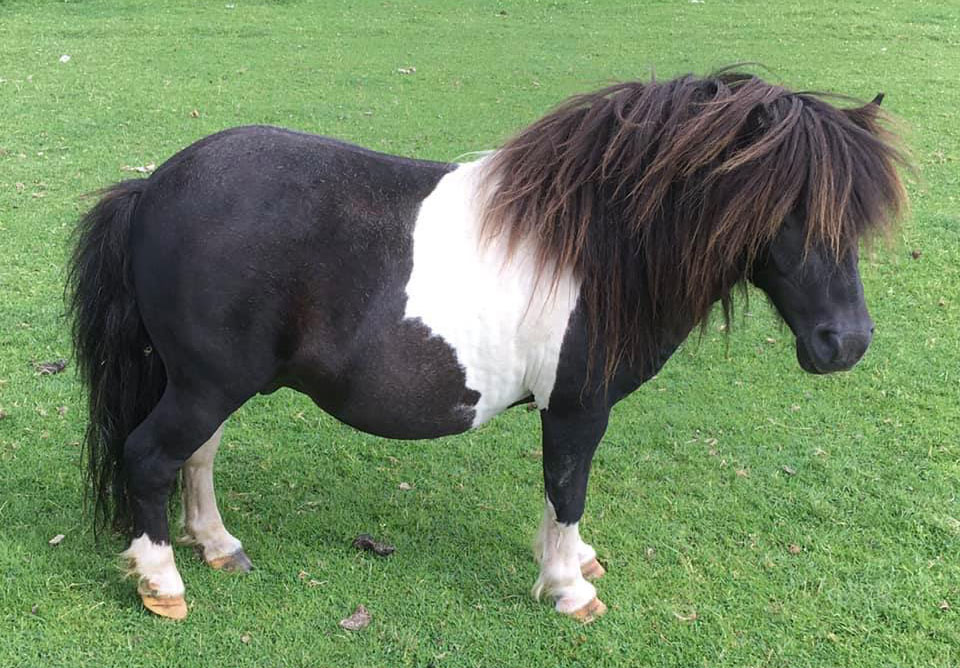
[[[589,620],[603,574],[577,529],[611,406],[733,288],[762,288],[812,373],[873,323],[861,237],[904,203],[879,98],[837,108],[730,72],[573,98],[463,165],[272,127],[184,149],[108,188],[69,274],[98,524],[150,610],[187,613],[185,538],[247,570],[213,486],[223,424],[290,387],[380,436],[456,434],[535,402],[546,502],[536,596]]]

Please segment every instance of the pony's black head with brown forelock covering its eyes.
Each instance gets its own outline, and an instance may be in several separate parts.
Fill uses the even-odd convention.
[[[797,361],[810,373],[850,369],[873,338],[858,241],[904,201],[893,169],[903,156],[877,123],[882,99],[881,93],[843,110],[806,100],[819,107],[809,116],[818,122],[801,128],[817,163],[807,170],[794,210],[750,268],[753,283],[793,331]]]

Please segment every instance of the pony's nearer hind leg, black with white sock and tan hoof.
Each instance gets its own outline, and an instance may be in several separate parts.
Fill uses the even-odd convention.
[[[236,408],[215,397],[213,392],[185,393],[168,384],[124,445],[133,540],[123,556],[137,578],[144,606],[173,619],[186,617],[187,605],[170,545],[167,497],[180,467]]]

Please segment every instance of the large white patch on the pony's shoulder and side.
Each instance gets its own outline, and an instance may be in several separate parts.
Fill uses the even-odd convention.
[[[530,395],[547,408],[580,290],[569,272],[538,282],[529,248],[507,260],[504,240],[481,242],[484,165],[446,174],[421,203],[404,313],[454,349],[467,387],[480,393],[473,426]]]

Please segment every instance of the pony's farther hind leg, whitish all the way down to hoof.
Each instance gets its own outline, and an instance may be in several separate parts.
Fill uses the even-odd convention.
[[[183,465],[184,533],[178,542],[196,546],[203,560],[217,570],[246,572],[253,564],[223,525],[213,489],[213,460],[222,436],[221,424]]]

